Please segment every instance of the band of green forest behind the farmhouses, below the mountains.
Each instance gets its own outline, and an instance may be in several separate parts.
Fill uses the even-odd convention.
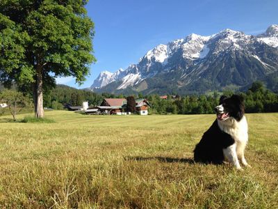
[[[167,95],[167,99],[161,99],[160,95],[133,95],[134,98],[146,98],[152,107],[149,114],[213,114],[213,108],[218,105],[221,95],[237,93],[245,101],[247,113],[277,112],[278,95],[261,82],[254,82],[245,92],[224,91],[213,92],[208,95]],[[69,86],[58,85],[56,88],[44,93],[44,107],[63,109],[64,104],[72,106],[81,105],[88,101],[90,106],[99,105],[104,98],[125,98],[127,95],[113,95],[111,93],[94,93],[92,91],[79,90]]]

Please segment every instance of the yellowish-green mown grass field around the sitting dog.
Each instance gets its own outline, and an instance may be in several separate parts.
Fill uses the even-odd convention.
[[[0,208],[278,208],[278,114],[247,114],[244,171],[193,163],[213,115],[46,117],[0,117]]]

